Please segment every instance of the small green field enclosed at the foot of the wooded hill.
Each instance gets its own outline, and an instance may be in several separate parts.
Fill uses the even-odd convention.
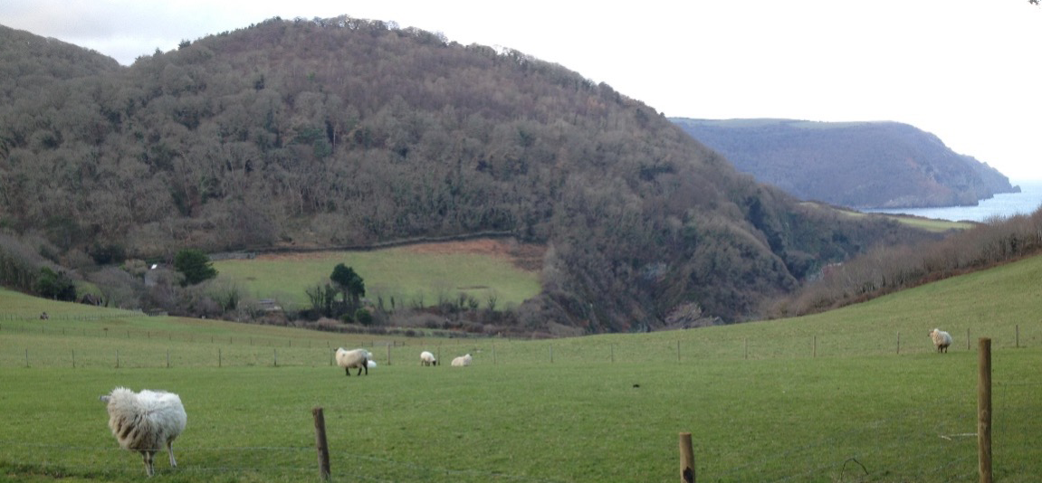
[[[418,253],[407,248],[327,252],[306,259],[239,259],[214,262],[220,275],[241,284],[250,297],[275,299],[306,307],[304,290],[329,283],[337,263],[351,266],[366,282],[366,298],[384,307],[432,306],[440,299],[473,297],[487,307],[495,297],[499,308],[519,305],[540,290],[539,274],[483,254]],[[393,299],[393,300],[392,300]]]

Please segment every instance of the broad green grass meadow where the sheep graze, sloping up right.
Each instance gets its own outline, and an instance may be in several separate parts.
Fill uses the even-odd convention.
[[[176,391],[189,412],[179,466],[160,453],[157,481],[319,481],[317,406],[332,481],[676,481],[679,432],[698,481],[976,481],[976,342],[991,337],[995,480],[1034,482],[1038,280],[1042,257],[814,316],[553,340],[329,334],[0,291],[0,475],[143,479],[98,401],[124,385]],[[954,336],[948,354],[934,327]],[[338,346],[379,365],[345,377]],[[422,350],[474,365],[422,367]]]

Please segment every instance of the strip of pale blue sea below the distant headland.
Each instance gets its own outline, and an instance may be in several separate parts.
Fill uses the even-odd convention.
[[[1042,205],[1042,181],[1028,181],[1020,184],[1020,193],[1004,193],[995,195],[990,200],[981,200],[976,206],[945,206],[941,208],[895,208],[867,209],[873,213],[902,213],[925,217],[952,222],[970,221],[984,222],[995,217],[1013,217],[1015,214],[1031,214]]]

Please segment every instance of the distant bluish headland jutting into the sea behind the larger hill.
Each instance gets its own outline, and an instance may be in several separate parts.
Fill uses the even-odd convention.
[[[1019,190],[994,168],[907,124],[673,122],[739,171],[804,200],[855,208],[956,206]]]

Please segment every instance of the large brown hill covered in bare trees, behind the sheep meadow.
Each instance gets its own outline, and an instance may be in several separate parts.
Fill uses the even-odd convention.
[[[0,106],[0,239],[81,276],[183,248],[507,232],[548,246],[543,293],[514,314],[532,329],[742,321],[825,263],[920,236],[758,184],[562,66],[347,17],[55,75]]]

